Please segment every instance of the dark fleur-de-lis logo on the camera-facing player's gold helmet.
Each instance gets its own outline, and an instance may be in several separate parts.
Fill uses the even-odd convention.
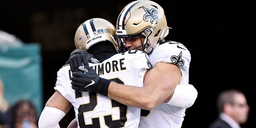
[[[150,23],[152,24],[154,22],[154,20],[158,20],[158,16],[157,16],[157,10],[152,8],[151,10],[149,10],[148,8],[145,8],[142,6],[142,8],[145,10],[146,14],[144,14],[143,16],[143,20],[148,22],[150,21]],[[157,22],[156,22],[157,24]]]

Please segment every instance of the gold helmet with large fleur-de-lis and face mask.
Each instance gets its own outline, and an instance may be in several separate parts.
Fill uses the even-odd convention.
[[[133,36],[145,36],[142,45],[134,48],[150,54],[168,35],[166,17],[163,8],[150,0],[136,0],[126,5],[116,22],[116,38],[124,47],[124,39]]]

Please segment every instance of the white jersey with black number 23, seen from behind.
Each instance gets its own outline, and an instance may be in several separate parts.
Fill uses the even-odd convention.
[[[138,50],[116,54],[102,63],[89,63],[89,66],[102,78],[140,87],[143,86],[145,72],[152,68],[148,56]],[[78,128],[138,127],[139,108],[126,106],[94,92],[75,91],[71,87],[71,77],[70,66],[63,66],[57,73],[54,89],[74,106]]]

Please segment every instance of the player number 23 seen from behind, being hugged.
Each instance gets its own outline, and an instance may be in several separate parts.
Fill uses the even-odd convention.
[[[139,50],[118,53],[114,39],[115,27],[102,18],[82,23],[75,34],[76,48],[92,53],[98,64],[87,63],[88,70],[120,84],[143,86],[143,76],[152,68],[148,56]],[[94,72],[95,72],[94,71]],[[72,72],[69,64],[57,72],[56,92],[46,102],[39,118],[39,128],[59,128],[59,121],[74,106],[78,128],[137,128],[140,109],[116,102],[95,92],[79,92],[71,88]],[[129,74],[134,74],[127,77]],[[92,81],[93,82],[93,81]],[[88,85],[89,86],[89,85]]]

